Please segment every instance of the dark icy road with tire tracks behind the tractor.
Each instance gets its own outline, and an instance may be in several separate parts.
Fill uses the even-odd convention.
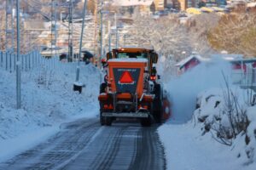
[[[81,119],[32,150],[0,164],[0,169],[166,169],[156,126]]]

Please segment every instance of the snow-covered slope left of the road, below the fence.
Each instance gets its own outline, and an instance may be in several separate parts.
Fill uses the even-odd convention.
[[[79,94],[73,92],[75,69],[61,72],[40,67],[22,72],[22,108],[16,110],[15,73],[0,68],[0,161],[56,133],[61,122],[98,114],[100,71],[81,64],[79,82],[85,87]]]

